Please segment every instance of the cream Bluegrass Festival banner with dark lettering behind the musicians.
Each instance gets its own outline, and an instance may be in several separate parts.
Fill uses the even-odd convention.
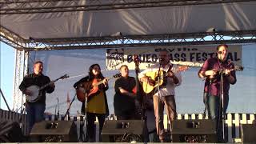
[[[166,49],[170,53],[172,63],[202,66],[207,58],[214,58],[216,54],[216,46],[148,46],[148,47],[132,47],[122,49],[106,50],[106,68],[107,70],[119,69],[122,65],[127,65],[130,70],[134,70],[133,61],[134,54],[138,55],[141,63],[139,68],[146,69],[148,66],[158,62],[158,51]],[[227,59],[234,62],[235,65],[242,66],[242,46],[230,45],[228,48]]]

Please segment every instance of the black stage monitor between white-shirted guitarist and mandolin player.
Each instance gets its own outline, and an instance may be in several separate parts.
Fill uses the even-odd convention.
[[[210,119],[174,120],[173,142],[217,142],[216,123]]]

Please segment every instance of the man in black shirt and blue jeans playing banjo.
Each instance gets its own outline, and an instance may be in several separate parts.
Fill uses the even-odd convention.
[[[42,70],[43,63],[41,61],[34,62],[34,73],[26,75],[19,86],[22,93],[26,94],[26,113],[28,115],[29,130],[32,129],[35,122],[40,122],[44,119],[46,93],[52,93],[55,88],[54,82],[50,82],[50,78],[42,74]],[[46,87],[42,90],[39,89],[42,86]]]

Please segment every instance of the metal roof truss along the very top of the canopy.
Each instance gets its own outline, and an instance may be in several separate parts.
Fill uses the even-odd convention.
[[[35,14],[87,10],[116,10],[190,6],[255,0],[0,0],[0,14]],[[59,5],[62,2],[62,5]]]

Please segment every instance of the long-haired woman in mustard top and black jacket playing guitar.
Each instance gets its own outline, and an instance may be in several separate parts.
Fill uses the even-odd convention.
[[[106,116],[109,115],[106,99],[108,80],[103,77],[100,66],[93,64],[89,68],[89,75],[74,83],[74,88],[77,90],[78,100],[82,102],[81,111],[86,114],[88,141],[95,142],[96,117],[99,123],[99,134],[101,134]]]

